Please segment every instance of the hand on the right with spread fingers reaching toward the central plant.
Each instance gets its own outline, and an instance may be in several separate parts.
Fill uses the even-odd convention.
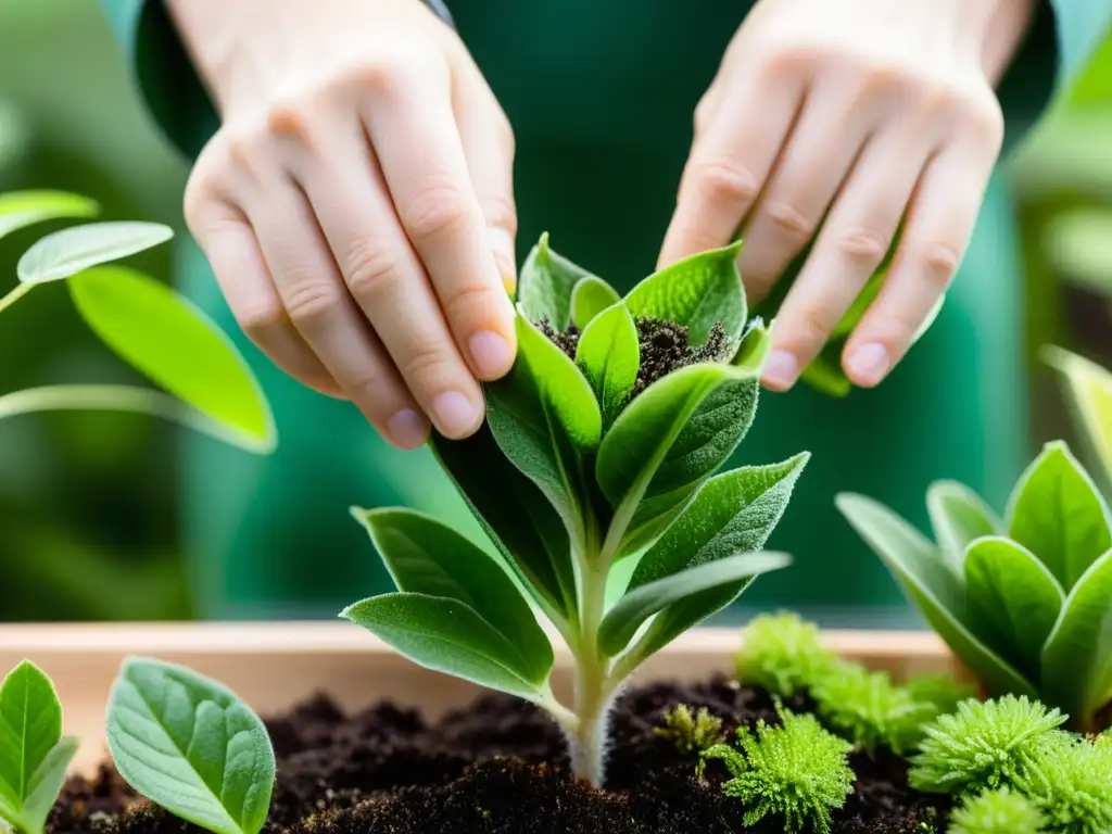
[[[814,247],[777,315],[764,383],[790,388],[904,229],[843,354],[874,386],[969,245],[1000,152],[993,92],[1033,0],[761,0],[695,112],[661,264],[725,246],[759,299]],[[817,232],[817,235],[816,235]]]

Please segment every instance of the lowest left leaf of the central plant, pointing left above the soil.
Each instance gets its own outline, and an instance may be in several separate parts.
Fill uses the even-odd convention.
[[[383,594],[340,614],[419,666],[534,703],[548,697],[549,669],[537,674],[509,639],[456,599]]]

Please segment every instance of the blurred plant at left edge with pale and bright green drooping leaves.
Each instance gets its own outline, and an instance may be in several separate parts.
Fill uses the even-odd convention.
[[[99,206],[64,191],[0,195],[0,237],[47,220],[86,220]],[[177,421],[254,454],[269,454],[277,433],[269,404],[228,337],[182,296],[110,261],[172,237],[148,222],[89,222],[40,238],[19,260],[19,284],[0,312],[34,288],[64,281],[90,329],[159,386],[53,385],[0,396],[0,419],[48,410],[105,409]]]

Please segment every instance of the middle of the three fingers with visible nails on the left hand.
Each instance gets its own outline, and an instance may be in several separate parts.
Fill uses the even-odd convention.
[[[292,168],[335,254],[337,280],[421,410],[445,437],[474,434],[483,424],[483,391],[398,222],[363,126],[353,118],[322,130],[311,158]]]

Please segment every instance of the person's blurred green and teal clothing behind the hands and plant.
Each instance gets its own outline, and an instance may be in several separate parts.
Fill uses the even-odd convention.
[[[562,254],[628,288],[647,275],[674,207],[692,111],[749,3],[739,0],[456,0],[457,27],[517,136],[519,257],[543,230]],[[156,119],[187,155],[216,127],[158,3],[106,0]],[[1007,143],[1022,136],[1105,31],[1106,0],[1040,17],[1001,88]],[[755,113],[754,118],[761,118]],[[332,616],[390,587],[348,507],[404,504],[477,528],[427,450],[390,449],[356,409],[285,377],[242,337],[203,257],[178,251],[179,286],[249,357],[271,398],[279,448],[258,458],[182,438],[185,547],[206,617]],[[764,394],[742,463],[813,453],[770,547],[794,567],[762,577],[746,607],[902,617],[892,579],[833,506],[877,496],[925,525],[927,484],[954,478],[997,507],[1030,454],[1021,262],[1005,183],[994,178],[936,324],[876,390],[831,399]]]

